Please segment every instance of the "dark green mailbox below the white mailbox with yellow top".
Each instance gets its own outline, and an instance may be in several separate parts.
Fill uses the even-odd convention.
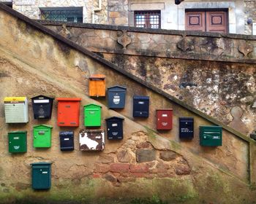
[[[26,152],[26,131],[15,131],[8,133],[9,152]]]

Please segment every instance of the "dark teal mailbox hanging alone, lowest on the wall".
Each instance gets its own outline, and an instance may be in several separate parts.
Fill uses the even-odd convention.
[[[50,162],[31,163],[33,189],[50,189],[50,165]]]

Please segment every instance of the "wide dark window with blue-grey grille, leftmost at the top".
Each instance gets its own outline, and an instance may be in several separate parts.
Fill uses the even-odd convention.
[[[83,23],[83,7],[40,8],[42,20]]]

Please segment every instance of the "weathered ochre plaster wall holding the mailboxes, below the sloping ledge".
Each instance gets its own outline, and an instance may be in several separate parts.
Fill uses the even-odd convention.
[[[128,203],[133,197],[157,197],[168,203],[255,201],[254,141],[1,5],[0,24],[1,101],[7,95],[80,97],[81,105],[102,106],[102,128],[106,117],[124,117],[122,141],[106,141],[103,152],[80,152],[82,109],[80,127],[65,128],[56,125],[56,101],[52,119],[43,122],[33,119],[29,102],[29,123],[7,125],[1,103],[0,203]],[[125,109],[113,111],[105,98],[89,98],[89,76],[98,73],[106,75],[107,87],[127,87]],[[132,118],[134,94],[150,96],[148,119]],[[154,112],[159,108],[173,108],[170,132],[155,130]],[[178,138],[181,116],[195,118],[192,141]],[[32,127],[42,123],[53,125],[52,146],[34,149]],[[199,146],[198,126],[214,124],[223,126],[223,145]],[[75,151],[61,152],[59,131],[70,129],[75,131]],[[28,130],[25,154],[8,153],[7,133],[13,130]],[[31,189],[30,164],[38,161],[53,162],[49,191]]]

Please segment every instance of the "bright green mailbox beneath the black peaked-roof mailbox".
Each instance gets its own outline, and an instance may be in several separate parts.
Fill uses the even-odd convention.
[[[51,129],[50,125],[36,125],[33,129],[34,147],[50,147]]]

